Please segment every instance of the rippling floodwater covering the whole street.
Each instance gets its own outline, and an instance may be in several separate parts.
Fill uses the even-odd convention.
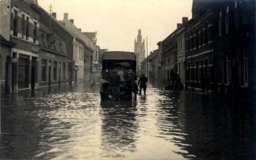
[[[0,159],[256,159],[255,110],[212,93],[150,86],[113,102],[80,84],[1,105]]]

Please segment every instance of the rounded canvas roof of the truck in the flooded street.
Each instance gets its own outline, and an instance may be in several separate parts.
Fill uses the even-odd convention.
[[[136,61],[136,55],[133,52],[124,52],[124,51],[109,51],[104,52],[102,55],[102,60],[132,60]]]

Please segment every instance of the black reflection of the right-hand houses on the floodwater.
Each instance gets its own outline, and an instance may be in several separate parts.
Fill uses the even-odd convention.
[[[255,112],[246,103],[232,103],[204,94],[186,95],[182,129],[187,153],[191,159],[255,159]],[[200,103],[198,103],[198,101]],[[179,117],[180,119],[180,117]]]

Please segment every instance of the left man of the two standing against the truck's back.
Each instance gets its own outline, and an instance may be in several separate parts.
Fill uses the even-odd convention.
[[[117,74],[117,70],[115,69],[113,75],[110,76],[110,82],[112,85],[112,93],[113,93],[113,100],[118,99],[120,100],[120,82],[121,78]]]

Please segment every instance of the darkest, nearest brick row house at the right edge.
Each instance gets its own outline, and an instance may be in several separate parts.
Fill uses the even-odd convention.
[[[216,91],[249,96],[246,91],[255,89],[255,1],[219,1],[214,6]]]

